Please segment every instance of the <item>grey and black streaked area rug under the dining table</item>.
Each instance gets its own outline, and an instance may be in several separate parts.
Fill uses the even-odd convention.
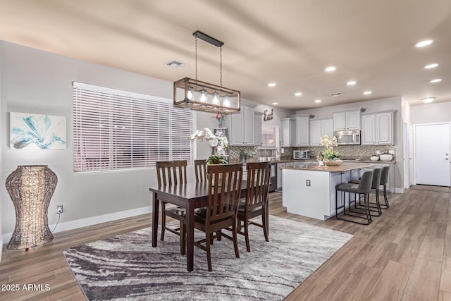
[[[152,229],[117,235],[64,250],[88,300],[283,300],[352,238],[352,235],[277,216],[269,218],[269,242],[251,226],[251,252],[239,235],[214,241],[213,271],[194,248],[194,271],[186,269],[180,240],[166,233],[152,247]],[[202,233],[197,233],[202,237]]]

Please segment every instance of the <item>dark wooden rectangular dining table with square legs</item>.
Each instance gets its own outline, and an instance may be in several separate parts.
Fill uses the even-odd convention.
[[[186,257],[187,271],[194,269],[194,211],[209,204],[211,182],[189,182],[149,188],[152,200],[152,247],[158,240],[159,203],[175,204],[186,209]],[[246,197],[247,181],[241,183],[240,197]],[[267,214],[268,210],[266,210]],[[267,216],[266,216],[267,218]]]

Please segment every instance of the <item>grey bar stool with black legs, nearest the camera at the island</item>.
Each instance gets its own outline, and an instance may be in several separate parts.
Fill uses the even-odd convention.
[[[371,191],[371,184],[373,181],[373,171],[368,170],[365,171],[362,175],[362,178],[360,178],[359,184],[355,183],[342,183],[335,186],[335,219],[340,219],[342,221],[350,221],[352,223],[359,223],[361,225],[369,225],[373,219],[371,219],[371,213],[369,211],[369,192]],[[343,216],[354,216],[359,219],[364,219],[366,222],[359,222],[354,221],[352,219],[345,219],[344,217],[338,216],[338,209],[341,207],[338,207],[338,192],[343,192],[343,199],[345,200],[342,207],[343,207]],[[364,216],[358,215],[359,212],[353,212],[354,214],[350,213],[346,214],[346,192],[349,194],[354,193],[360,195],[364,195]],[[350,206],[351,207],[351,198],[350,198]]]

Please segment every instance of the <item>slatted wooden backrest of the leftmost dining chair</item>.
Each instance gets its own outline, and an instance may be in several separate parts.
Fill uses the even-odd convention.
[[[186,160],[156,162],[156,178],[159,186],[186,183]]]

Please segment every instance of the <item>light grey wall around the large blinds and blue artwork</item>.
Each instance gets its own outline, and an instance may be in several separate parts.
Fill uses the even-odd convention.
[[[49,224],[56,223],[56,205],[63,204],[62,225],[56,231],[77,226],[74,221],[95,223],[118,219],[121,214],[150,211],[149,187],[156,185],[154,168],[140,171],[73,173],[72,82],[113,87],[157,97],[173,97],[173,82],[149,78],[96,63],[71,59],[37,49],[0,41],[1,91],[1,216],[0,233],[11,234],[16,214],[5,181],[18,165],[47,164],[58,176],[49,207]],[[176,72],[176,71],[175,71]],[[175,73],[174,78],[183,77]],[[18,150],[9,148],[9,112],[66,116],[66,150]],[[198,125],[212,127],[212,113],[199,113]],[[206,142],[199,145],[204,156]],[[208,152],[207,152],[208,153]],[[194,175],[192,168],[189,173]],[[99,219],[99,216],[104,216]],[[66,224],[66,227],[64,226]],[[80,225],[78,225],[80,226]],[[84,225],[86,226],[86,225]],[[5,235],[6,238],[6,235]],[[7,241],[4,241],[7,242]]]

